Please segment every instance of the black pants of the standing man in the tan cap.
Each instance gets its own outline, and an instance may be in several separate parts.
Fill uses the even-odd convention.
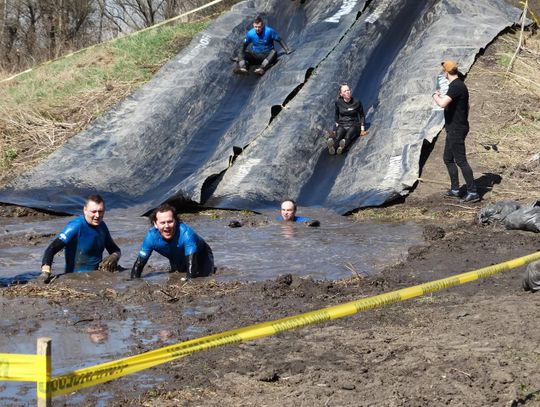
[[[446,133],[443,161],[450,176],[450,188],[453,190],[459,189],[459,167],[467,184],[467,192],[476,192],[474,175],[471,166],[467,162],[467,152],[465,150],[467,133],[468,131]]]

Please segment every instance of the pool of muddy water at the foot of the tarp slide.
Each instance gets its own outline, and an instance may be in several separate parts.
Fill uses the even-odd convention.
[[[304,224],[276,222],[276,213],[250,216],[251,223],[230,228],[238,212],[203,212],[189,223],[214,251],[218,280],[260,281],[292,273],[314,279],[340,279],[351,273],[370,275],[395,263],[408,247],[421,242],[421,231],[414,224],[374,224],[354,222],[324,210],[306,209],[303,216],[321,221],[318,228]],[[0,224],[0,283],[35,278],[46,246],[71,218],[25,222],[3,219]],[[241,220],[243,223],[245,220]],[[267,222],[266,222],[267,221]],[[132,212],[108,213],[106,222],[122,248],[121,265],[131,268],[138,246],[148,230],[145,218]],[[154,253],[145,278],[165,281],[168,262]],[[63,268],[62,254],[54,270]],[[156,271],[157,270],[157,271]]]

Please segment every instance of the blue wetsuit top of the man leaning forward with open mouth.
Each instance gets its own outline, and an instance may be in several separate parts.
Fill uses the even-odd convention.
[[[200,237],[185,223],[180,223],[170,241],[163,239],[157,228],[148,231],[139,250],[139,257],[146,263],[156,251],[169,259],[171,265],[185,264],[185,258],[197,252]]]

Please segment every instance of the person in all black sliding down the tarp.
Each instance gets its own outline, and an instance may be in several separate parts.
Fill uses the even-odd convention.
[[[352,96],[346,83],[339,85],[335,107],[335,137],[326,140],[331,155],[343,154],[355,137],[367,135],[362,103]]]

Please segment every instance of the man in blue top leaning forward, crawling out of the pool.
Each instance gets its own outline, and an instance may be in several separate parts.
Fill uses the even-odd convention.
[[[143,268],[155,250],[169,259],[170,273],[186,273],[187,278],[207,277],[215,272],[212,249],[193,229],[183,223],[176,209],[162,204],[150,215],[152,229],[146,234],[131,278],[140,278]]]

